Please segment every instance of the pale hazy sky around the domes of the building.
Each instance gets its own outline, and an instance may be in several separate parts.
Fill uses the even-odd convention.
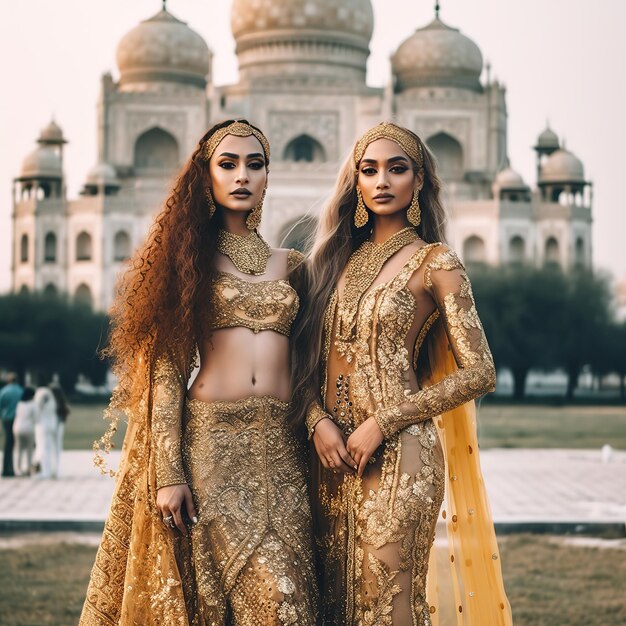
[[[341,0],[338,0],[341,1]],[[232,0],[169,0],[168,10],[212,49],[217,85],[237,81]],[[368,83],[389,80],[389,57],[433,17],[431,0],[372,0],[375,30]],[[70,198],[96,161],[96,101],[102,73],[117,78],[115,49],[160,0],[3,2],[0,21],[0,291],[10,287],[11,180],[52,116],[70,143]],[[626,2],[623,0],[442,0],[441,18],[480,47],[507,87],[509,157],[535,185],[531,146],[549,119],[594,183],[596,267],[626,279]],[[419,129],[416,129],[419,133]]]

